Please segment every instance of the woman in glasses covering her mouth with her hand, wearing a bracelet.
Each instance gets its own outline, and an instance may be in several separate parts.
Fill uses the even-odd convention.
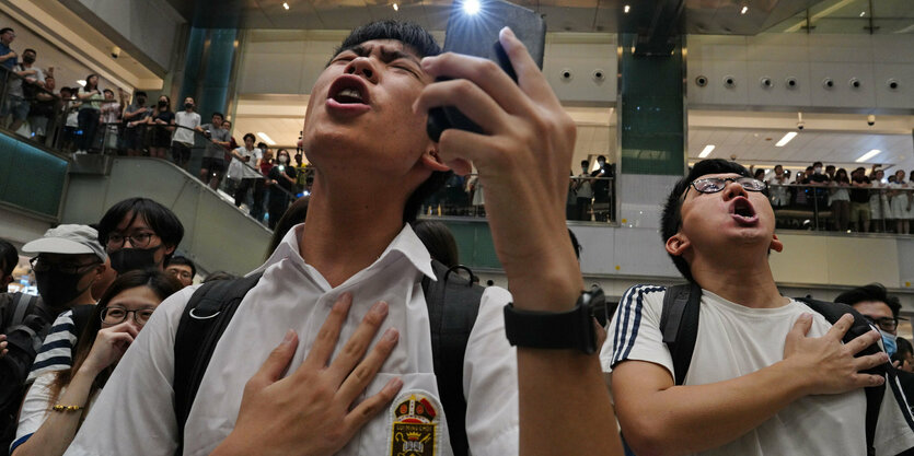
[[[159,303],[180,289],[175,279],[159,270],[118,277],[92,312],[72,367],[41,375],[28,389],[10,454],[62,455],[114,365]]]

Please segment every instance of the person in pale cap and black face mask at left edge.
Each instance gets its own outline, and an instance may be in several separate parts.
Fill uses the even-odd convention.
[[[0,358],[0,444],[9,445],[22,401],[22,386],[42,340],[58,314],[73,306],[94,304],[92,285],[104,272],[105,250],[97,232],[86,225],[60,225],[22,247],[36,254],[32,269],[39,297],[0,294],[0,334],[9,352]]]

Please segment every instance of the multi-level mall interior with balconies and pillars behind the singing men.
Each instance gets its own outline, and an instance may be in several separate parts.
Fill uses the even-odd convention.
[[[581,245],[586,283],[618,300],[636,283],[682,282],[659,238],[661,201],[691,164],[717,157],[770,185],[785,245],[771,264],[783,294],[830,300],[880,282],[901,299],[903,315],[914,315],[914,196],[905,190],[914,189],[911,0],[517,3],[545,17],[543,72],[577,125],[567,224]],[[339,42],[360,24],[394,17],[444,43],[454,8],[450,0],[0,2],[0,27],[15,33],[10,48],[34,49],[34,66],[56,81],[33,93],[33,105],[59,102],[44,119],[32,106],[25,121],[0,122],[0,237],[21,247],[57,224],[95,223],[115,202],[140,196],[181,219],[178,253],[197,265],[197,281],[255,269],[276,214],[254,195],[236,207],[231,171],[215,188],[201,182],[212,139],[188,130],[189,157],[157,155],[157,132],[146,131],[155,127],[128,131],[122,110],[138,92],[149,106],[166,95],[175,112],[189,96],[204,124],[223,113],[238,144],[252,133],[274,154],[304,152],[301,178],[270,189],[291,201],[313,177],[299,147],[309,93]],[[112,91],[94,135],[60,93],[84,86],[88,74]],[[7,87],[19,78],[5,77]],[[864,168],[871,180],[861,197],[866,220],[856,210],[859,218],[848,220],[841,178],[809,185],[817,162],[822,174]],[[786,177],[775,176],[777,165]],[[909,209],[894,213],[895,199]],[[460,262],[483,284],[506,285],[484,201],[475,176],[461,176],[419,218],[450,227]],[[27,257],[15,272],[12,289],[34,289]],[[899,335],[911,337],[910,321]]]

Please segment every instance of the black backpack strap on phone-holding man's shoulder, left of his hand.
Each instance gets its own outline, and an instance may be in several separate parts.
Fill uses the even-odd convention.
[[[174,338],[174,411],[177,449],[184,449],[184,424],[204,378],[209,360],[244,295],[261,280],[261,273],[236,280],[204,283],[187,302]]]

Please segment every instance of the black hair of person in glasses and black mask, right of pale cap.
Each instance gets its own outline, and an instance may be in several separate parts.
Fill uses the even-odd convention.
[[[99,221],[99,243],[106,245],[111,233],[117,230],[117,225],[128,215],[128,225],[134,223],[137,217],[142,217],[165,245],[177,247],[184,238],[184,225],[171,209],[149,198],[128,198],[112,206]],[[170,258],[171,255],[166,255],[165,262]]]

